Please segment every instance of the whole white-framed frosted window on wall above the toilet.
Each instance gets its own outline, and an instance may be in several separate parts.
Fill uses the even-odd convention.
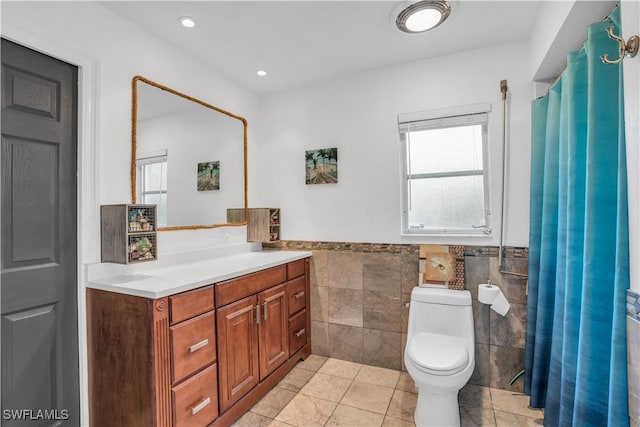
[[[403,234],[491,234],[489,106],[458,110],[399,116]]]

